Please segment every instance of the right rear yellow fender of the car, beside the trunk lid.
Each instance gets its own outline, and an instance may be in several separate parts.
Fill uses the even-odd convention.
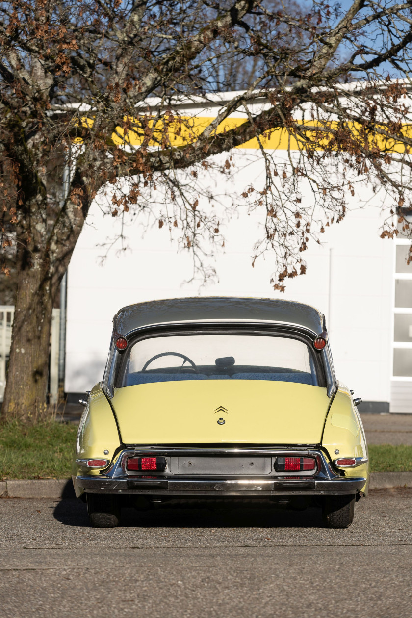
[[[327,415],[322,446],[327,450],[330,460],[343,457],[368,458],[368,446],[359,412],[346,386],[340,384]],[[339,451],[335,453],[335,451]],[[364,476],[368,480],[361,489],[368,494],[369,462],[345,468],[345,476]]]

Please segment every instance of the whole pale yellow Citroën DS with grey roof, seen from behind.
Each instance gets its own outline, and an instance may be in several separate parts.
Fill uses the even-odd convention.
[[[353,520],[369,485],[353,392],[335,379],[324,316],[266,298],[176,298],[114,316],[72,475],[91,525],[122,504],[256,500]]]

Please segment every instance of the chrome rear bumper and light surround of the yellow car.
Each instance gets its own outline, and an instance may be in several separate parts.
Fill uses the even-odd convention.
[[[316,456],[317,470],[314,476],[300,475],[295,478],[287,478],[288,475],[280,475],[271,472],[269,475],[256,475],[242,478],[213,476],[182,476],[170,472],[170,466],[165,473],[154,473],[150,478],[142,475],[132,475],[125,470],[125,459],[131,455],[147,455],[147,451],[140,449],[125,449],[119,454],[116,464],[99,475],[83,474],[73,477],[73,483],[77,495],[86,493],[107,494],[143,494],[159,496],[284,496],[286,495],[327,495],[327,494],[356,494],[365,485],[367,478],[364,476],[347,477],[334,472],[320,449],[177,449],[176,447],[164,449],[151,449],[150,454],[164,455],[166,459],[175,454],[208,453],[221,455],[223,452],[230,455],[244,455],[253,453],[267,457],[278,455],[305,455]],[[169,460],[170,461],[170,460]]]

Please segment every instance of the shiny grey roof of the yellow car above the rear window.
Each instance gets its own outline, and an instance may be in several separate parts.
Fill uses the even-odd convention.
[[[239,297],[193,297],[151,300],[123,307],[113,318],[113,330],[127,336],[154,324],[256,321],[298,324],[314,334],[324,330],[322,313],[293,300]]]

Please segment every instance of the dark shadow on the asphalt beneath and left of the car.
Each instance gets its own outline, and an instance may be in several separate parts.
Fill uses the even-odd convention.
[[[78,499],[62,499],[54,518],[66,526],[89,527],[87,509]],[[321,528],[321,509],[289,510],[275,506],[250,507],[227,504],[219,507],[182,508],[164,504],[150,510],[122,508],[122,528]]]

